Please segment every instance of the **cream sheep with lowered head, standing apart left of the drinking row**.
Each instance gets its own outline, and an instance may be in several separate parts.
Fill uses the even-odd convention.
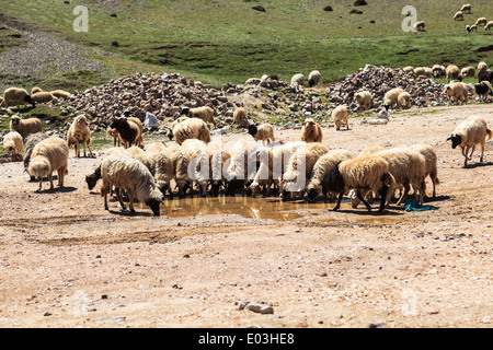
[[[38,190],[42,190],[45,176],[49,178],[49,189],[54,188],[53,172],[58,174],[58,186],[64,186],[64,177],[68,174],[68,154],[67,141],[58,137],[47,138],[34,147],[27,172],[39,182]]]

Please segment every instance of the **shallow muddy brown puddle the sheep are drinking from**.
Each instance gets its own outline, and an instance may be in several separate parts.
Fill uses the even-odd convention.
[[[303,222],[335,222],[352,220],[363,223],[393,224],[403,220],[402,211],[378,213],[378,207],[371,212],[365,208],[353,209],[349,202],[342,202],[341,210],[333,212],[335,203],[305,200],[280,201],[276,198],[220,196],[192,197],[164,200],[161,215],[168,218],[188,218],[197,215],[237,214],[248,219]]]

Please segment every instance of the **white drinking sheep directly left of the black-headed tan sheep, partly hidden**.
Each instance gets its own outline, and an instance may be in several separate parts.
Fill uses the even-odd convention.
[[[328,171],[337,166],[339,163],[352,158],[353,154],[347,150],[331,150],[329,153],[321,155],[313,165],[312,175],[306,188],[308,200],[313,201],[316,197],[322,192],[323,175],[325,175]],[[322,192],[322,195],[326,198],[328,194]]]

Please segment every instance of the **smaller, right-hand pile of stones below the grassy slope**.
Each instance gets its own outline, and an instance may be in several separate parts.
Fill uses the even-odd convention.
[[[412,107],[431,107],[447,104],[444,85],[432,78],[416,77],[403,69],[392,69],[376,66],[366,66],[358,72],[332,83],[325,92],[326,97],[336,104],[345,104],[356,110],[354,94],[358,91],[369,91],[372,96],[372,108],[383,105],[387,91],[401,88],[409,92],[413,98]]]

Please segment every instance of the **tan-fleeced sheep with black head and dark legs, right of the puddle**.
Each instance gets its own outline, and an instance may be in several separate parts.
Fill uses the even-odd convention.
[[[378,155],[365,155],[345,160],[337,166],[329,170],[322,182],[322,191],[339,195],[334,211],[341,208],[341,200],[351,189],[356,191],[359,200],[368,210],[370,205],[364,199],[362,190],[370,190],[380,195],[380,208],[382,212],[395,179],[389,172],[389,163]]]

